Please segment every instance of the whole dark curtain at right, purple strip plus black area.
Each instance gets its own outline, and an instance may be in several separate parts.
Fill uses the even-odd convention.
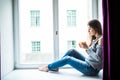
[[[120,78],[120,4],[119,0],[102,0],[103,12],[103,80]]]

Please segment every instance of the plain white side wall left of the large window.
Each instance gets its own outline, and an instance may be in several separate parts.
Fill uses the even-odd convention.
[[[1,77],[13,70],[12,0],[0,0]]]

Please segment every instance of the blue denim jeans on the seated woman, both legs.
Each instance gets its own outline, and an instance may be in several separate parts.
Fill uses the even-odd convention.
[[[66,64],[72,66],[85,75],[95,76],[99,72],[98,70],[94,69],[89,63],[87,63],[85,61],[85,57],[75,49],[68,50],[61,59],[48,64],[48,69],[57,69]]]

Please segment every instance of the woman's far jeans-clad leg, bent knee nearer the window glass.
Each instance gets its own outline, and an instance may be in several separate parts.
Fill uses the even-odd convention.
[[[71,56],[71,57],[75,57],[77,59],[85,61],[85,57],[81,53],[76,51],[75,49],[68,50],[63,57],[65,57],[65,56]]]

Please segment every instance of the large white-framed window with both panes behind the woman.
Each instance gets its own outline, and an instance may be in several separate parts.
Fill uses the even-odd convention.
[[[87,39],[87,22],[101,13],[93,9],[96,4],[96,0],[15,0],[16,68],[35,68],[59,59],[68,49],[81,50],[78,43]]]

